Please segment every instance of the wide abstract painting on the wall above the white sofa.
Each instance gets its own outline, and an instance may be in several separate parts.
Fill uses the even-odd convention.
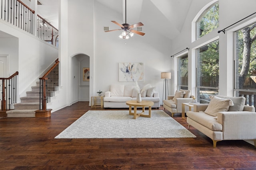
[[[119,63],[119,82],[144,82],[144,63]]]

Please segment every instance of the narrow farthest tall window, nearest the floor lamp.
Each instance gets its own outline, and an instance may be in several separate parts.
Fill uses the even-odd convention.
[[[188,54],[178,58],[178,88],[188,90]]]

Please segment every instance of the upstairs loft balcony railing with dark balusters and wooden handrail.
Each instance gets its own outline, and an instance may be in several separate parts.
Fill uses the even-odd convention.
[[[39,15],[37,15],[37,23],[33,22],[34,10],[20,0],[0,0],[0,2],[2,20],[58,47],[58,29]],[[36,27],[36,32],[34,27]]]

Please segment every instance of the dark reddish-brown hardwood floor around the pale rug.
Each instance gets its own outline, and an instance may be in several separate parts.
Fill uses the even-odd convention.
[[[256,170],[253,145],[220,141],[214,149],[212,140],[193,127],[196,138],[54,139],[88,110],[88,102],[77,102],[48,118],[0,119],[0,169]],[[188,128],[180,114],[175,116]]]

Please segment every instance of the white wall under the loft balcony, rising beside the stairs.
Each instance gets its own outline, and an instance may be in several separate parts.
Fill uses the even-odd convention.
[[[58,49],[3,20],[0,20],[0,31],[16,37],[1,45],[0,49],[4,49],[0,53],[10,54],[10,74],[19,72],[19,97],[26,96],[26,91],[31,91],[32,85],[36,86],[40,75],[58,58]],[[0,40],[3,41],[5,39]]]

